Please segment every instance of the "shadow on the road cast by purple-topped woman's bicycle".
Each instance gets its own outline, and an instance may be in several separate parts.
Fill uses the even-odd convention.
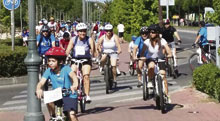
[[[84,116],[84,115],[89,115],[89,114],[98,114],[98,113],[103,113],[103,112],[107,112],[107,111],[112,111],[114,110],[114,107],[95,107],[92,109],[88,109],[85,111],[85,113],[79,113],[79,116]]]

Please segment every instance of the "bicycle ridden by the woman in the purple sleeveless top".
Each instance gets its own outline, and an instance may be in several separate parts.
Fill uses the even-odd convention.
[[[71,59],[72,64],[77,65],[77,78],[79,80],[78,86],[78,101],[80,105],[80,110],[82,113],[86,110],[86,94],[84,88],[84,80],[82,75],[82,65],[85,62],[88,62],[88,59]]]

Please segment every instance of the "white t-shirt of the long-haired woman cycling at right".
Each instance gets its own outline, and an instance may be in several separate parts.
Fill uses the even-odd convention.
[[[156,59],[156,58],[163,59],[165,57],[162,51],[163,51],[164,45],[166,45],[167,42],[163,38],[160,41],[161,41],[160,49],[159,49],[159,44],[158,43],[155,45],[155,47],[153,47],[151,45],[150,39],[147,39],[146,41],[144,41],[144,44],[147,46],[147,50],[148,50],[147,56],[146,56],[147,59],[150,59],[150,58],[152,58],[152,59]]]

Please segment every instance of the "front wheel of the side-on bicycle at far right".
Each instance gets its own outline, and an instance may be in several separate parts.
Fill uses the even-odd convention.
[[[189,57],[189,67],[190,69],[193,71],[194,69],[196,69],[197,67],[199,67],[201,64],[199,64],[199,54],[198,53],[194,53]]]

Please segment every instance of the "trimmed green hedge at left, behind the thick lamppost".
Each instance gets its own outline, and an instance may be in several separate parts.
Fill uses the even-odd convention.
[[[24,58],[27,47],[23,47],[22,40],[15,39],[15,51],[11,50],[11,40],[0,40],[0,77],[21,76],[27,74]]]

